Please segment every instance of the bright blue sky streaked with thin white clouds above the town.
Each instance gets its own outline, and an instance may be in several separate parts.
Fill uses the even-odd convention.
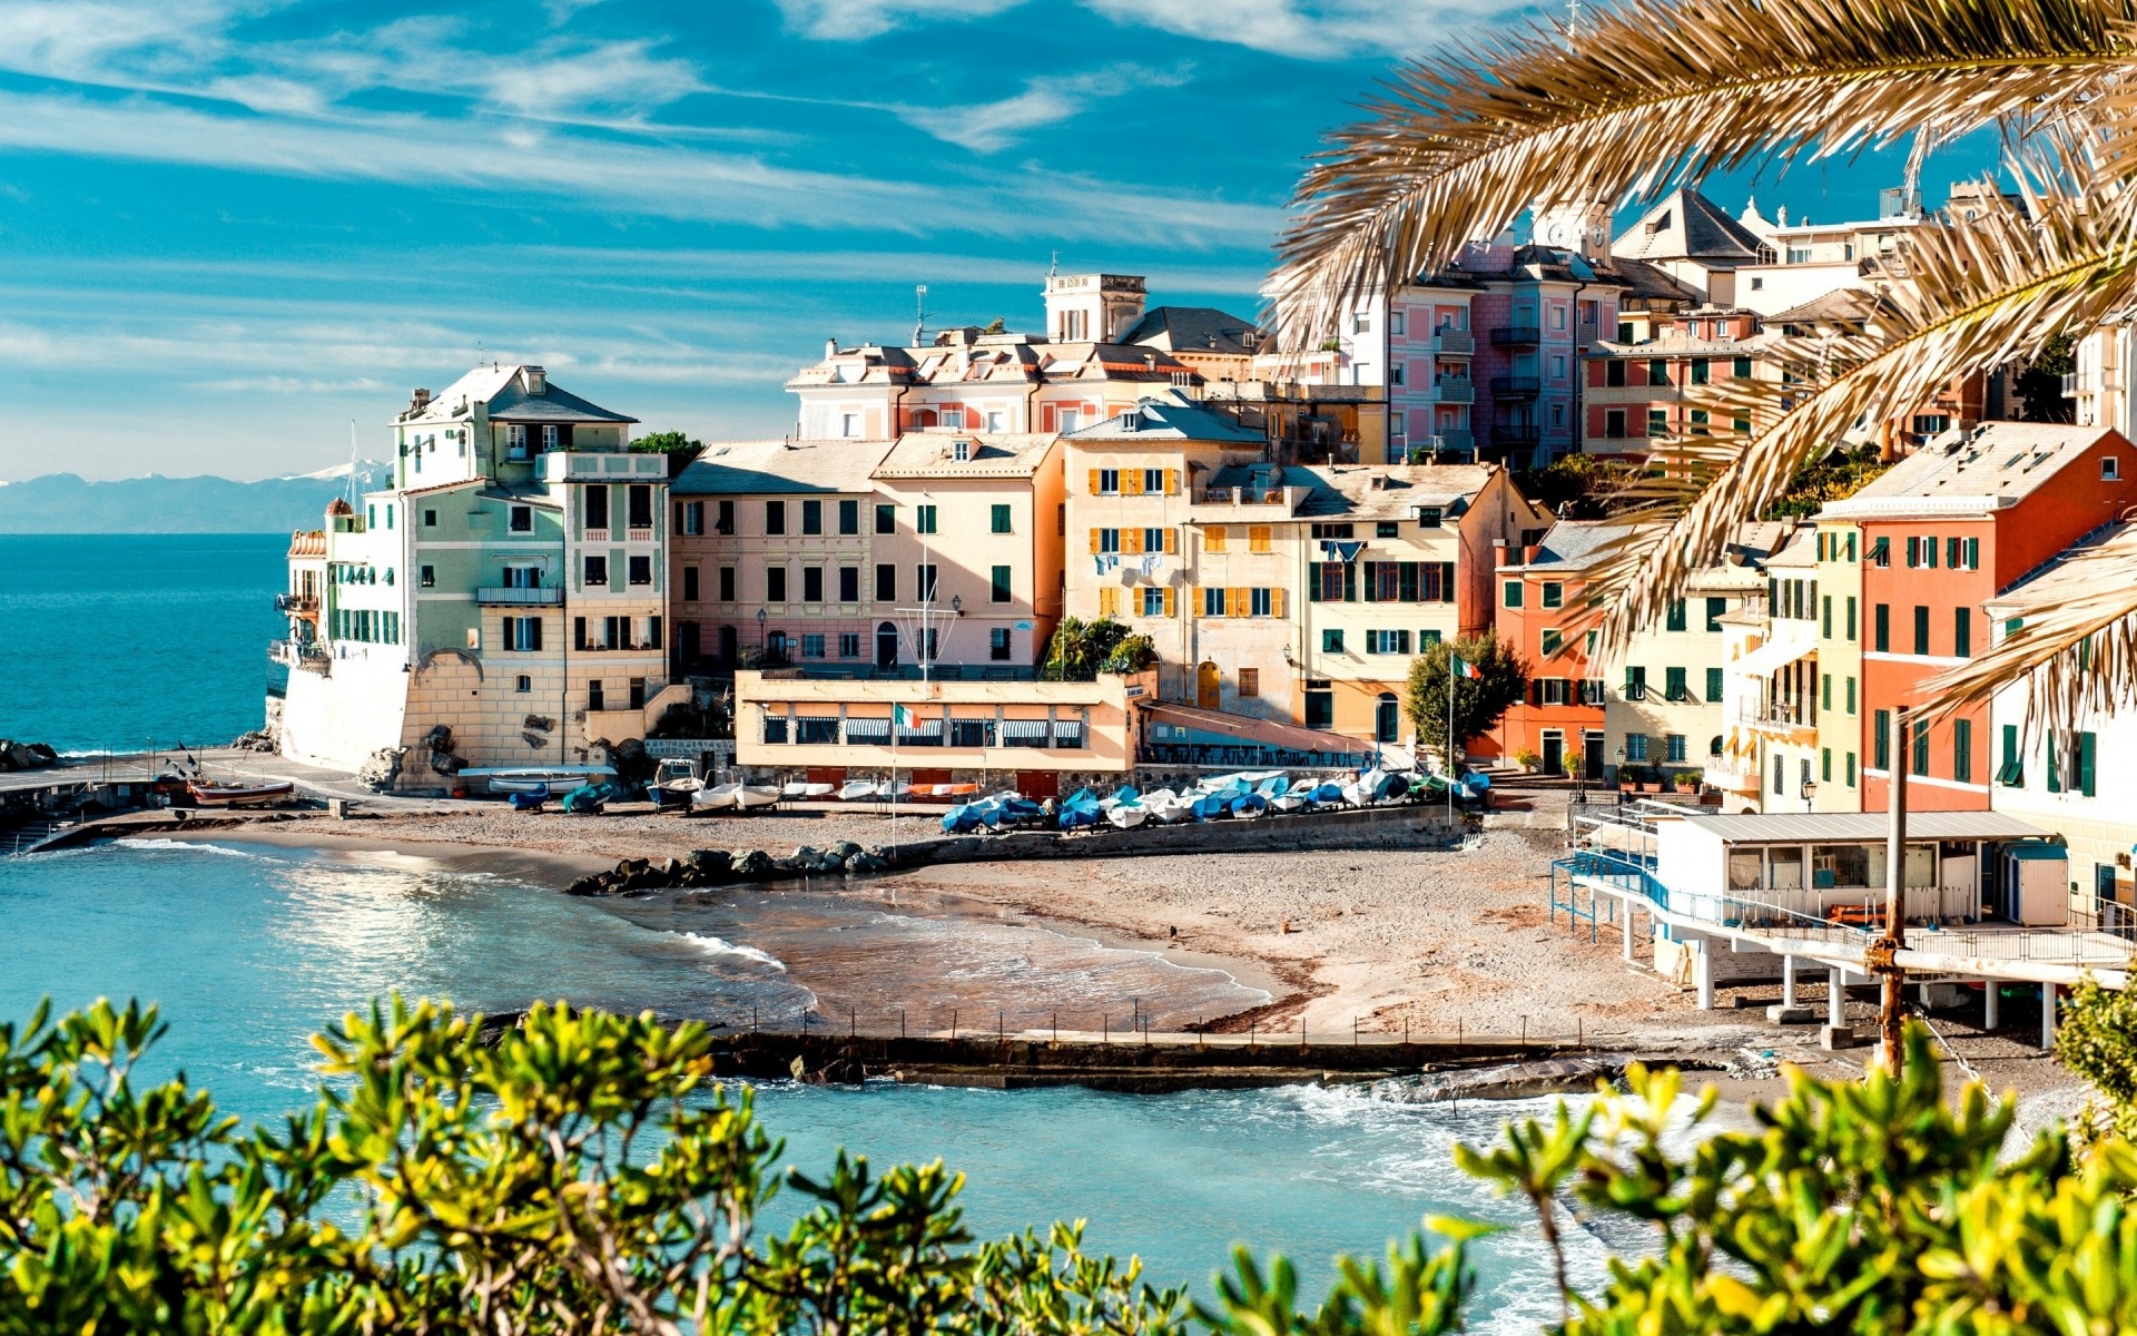
[[[0,481],[269,477],[543,361],[778,434],[827,336],[1039,280],[1252,314],[1299,160],[1489,0],[0,2]],[[1940,162],[1932,201],[1951,173]],[[1887,162],[1759,186],[1863,214]],[[1716,199],[1742,207],[1744,184]]]

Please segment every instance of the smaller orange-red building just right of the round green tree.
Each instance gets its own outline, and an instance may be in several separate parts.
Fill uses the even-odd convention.
[[[1530,547],[1500,547],[1498,635],[1528,661],[1528,699],[1507,712],[1489,737],[1468,742],[1472,757],[1513,765],[1534,752],[1543,774],[1590,770],[1603,740],[1603,684],[1588,667],[1588,571],[1622,526],[1560,522]],[[1594,744],[1590,744],[1594,737]]]

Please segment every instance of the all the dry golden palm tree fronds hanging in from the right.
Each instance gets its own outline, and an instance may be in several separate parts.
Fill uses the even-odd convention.
[[[1955,376],[2039,359],[2133,306],[2133,64],[2124,0],[1631,0],[1584,9],[1577,34],[1537,24],[1489,49],[1449,47],[1398,71],[1301,177],[1272,278],[1276,333],[1310,348],[1368,293],[1455,263],[1532,205],[1607,216],[1714,169],[1778,175],[1996,126],[2019,199],[1992,188],[1908,229],[1906,280],[1883,291],[1878,319],[1791,366],[1787,402],[1767,404],[1787,413],[1748,413],[1767,423],[1754,438],[1669,442],[1697,466],[1650,479],[1620,515],[1669,524],[1592,573],[1609,656],[1857,423],[1904,419]],[[1731,393],[1714,391],[1712,421],[1733,415]],[[2037,669],[2081,652],[2066,675],[2137,699],[2131,566],[1951,669],[1940,703],[2030,682],[2045,725],[2066,729],[2081,693],[2047,690]]]

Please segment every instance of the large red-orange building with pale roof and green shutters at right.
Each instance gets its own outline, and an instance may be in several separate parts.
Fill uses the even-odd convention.
[[[1891,765],[1908,810],[1985,810],[1985,708],[1915,720],[1893,757],[1891,718],[1923,682],[1992,641],[1981,603],[2137,504],[2137,451],[2105,428],[1981,423],[1908,455],[1821,519],[1861,528],[1866,812],[1885,810]]]

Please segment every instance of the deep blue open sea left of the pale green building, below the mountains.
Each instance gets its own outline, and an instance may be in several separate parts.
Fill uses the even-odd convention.
[[[0,737],[220,746],[261,727],[286,534],[0,534]]]

